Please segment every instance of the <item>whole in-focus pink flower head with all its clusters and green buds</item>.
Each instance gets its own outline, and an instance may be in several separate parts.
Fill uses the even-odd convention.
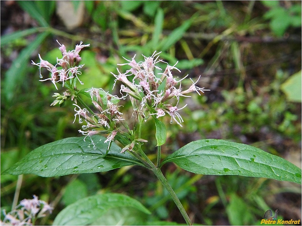
[[[156,53],[155,51],[150,57],[144,56],[144,61],[140,62],[135,61],[134,58],[136,55],[134,55],[131,60],[124,58],[128,61],[128,63],[118,64],[129,65],[131,67],[125,73],[121,73],[118,68],[117,75],[111,72],[111,74],[113,74],[115,77],[114,86],[117,81],[121,81],[122,83],[120,85],[120,93],[123,95],[122,97],[119,98],[117,96],[112,96],[111,94],[106,93],[103,89],[91,88],[86,91],[90,94],[92,103],[98,110],[98,113],[94,113],[89,108],[89,110],[86,108],[82,109],[76,104],[77,92],[76,89],[73,88],[75,87],[76,79],[79,80],[78,75],[81,74],[81,72],[78,70],[84,66],[83,64],[79,64],[81,61],[79,52],[84,47],[90,45],[82,45],[81,42],[80,45],[77,45],[74,50],[69,52],[66,51],[66,47],[64,45],[61,45],[60,43],[59,45],[59,49],[63,57],[61,59],[57,59],[57,64],[55,66],[50,64],[48,61],[43,60],[40,55],[40,63],[36,64],[34,61],[32,61],[32,64],[39,66],[41,78],[42,67],[46,68],[47,71],[50,72],[50,78],[40,81],[51,80],[55,86],[56,83],[61,82],[64,86],[64,83],[67,80],[72,79],[72,86],[67,86],[69,89],[63,93],[63,95],[60,95],[59,93],[54,94],[53,97],[56,97],[56,99],[51,105],[61,105],[67,98],[71,97],[71,100],[75,102],[75,104],[73,104],[75,105],[76,111],[75,120],[76,117],[79,117],[79,123],[83,123],[83,119],[86,122],[86,125],[83,125],[82,130],[79,130],[79,132],[83,135],[86,135],[86,137],[89,136],[90,139],[94,134],[109,133],[107,139],[105,140],[105,143],[109,142],[108,149],[111,146],[111,142],[117,135],[119,135],[117,137],[123,137],[121,139],[125,141],[124,146],[127,148],[127,150],[132,150],[137,142],[146,142],[146,140],[141,138],[134,139],[139,117],[142,117],[146,121],[150,116],[159,118],[168,114],[171,117],[171,123],[174,120],[177,124],[182,126],[181,123],[183,122],[183,119],[179,114],[179,111],[182,108],[185,108],[186,105],[182,108],[178,108],[177,105],[180,97],[189,97],[188,94],[194,91],[201,95],[201,92],[204,93],[204,91],[209,90],[204,89],[204,87],[200,88],[196,86],[200,76],[196,82],[192,81],[192,85],[188,89],[183,90],[181,81],[188,75],[180,80],[176,80],[172,75],[172,70],[175,69],[180,72],[180,70],[175,67],[177,63],[173,66],[170,66],[168,63],[160,60],[160,52]],[[167,64],[167,66],[163,73],[155,74],[155,69],[162,70],[156,65],[159,62],[163,62]],[[129,80],[128,77],[131,77],[132,79]],[[82,84],[80,80],[79,82]],[[162,84],[164,82],[165,84]],[[159,88],[161,84],[162,88]],[[117,105],[120,99],[125,99],[127,96],[130,98],[133,107],[132,117],[134,118],[134,122],[132,128],[130,128],[125,122],[124,118],[122,117],[123,113],[121,113],[119,110],[120,106]],[[171,99],[177,100],[175,105],[170,102]],[[120,129],[121,125],[124,126],[128,133]],[[121,140],[119,141],[122,142]],[[92,144],[93,148],[96,149],[93,141]],[[122,152],[125,151],[126,149],[123,149]]]

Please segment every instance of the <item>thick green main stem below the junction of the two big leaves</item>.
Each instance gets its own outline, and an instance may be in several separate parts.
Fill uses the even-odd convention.
[[[164,174],[162,174],[162,171],[160,168],[156,168],[155,165],[151,169],[153,173],[156,175],[156,177],[159,179],[159,181],[162,183],[162,185],[168,190],[169,194],[171,195],[173,201],[175,202],[176,206],[178,207],[179,211],[181,212],[183,218],[185,219],[186,223],[188,225],[193,225],[187,212],[185,211],[185,208],[182,206],[182,203],[179,201],[178,197],[176,196],[174,190],[166,180]]]

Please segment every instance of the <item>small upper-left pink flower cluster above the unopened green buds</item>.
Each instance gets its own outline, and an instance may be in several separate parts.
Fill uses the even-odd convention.
[[[58,40],[57,40],[57,42],[58,42]],[[61,51],[63,57],[61,59],[57,58],[57,64],[55,66],[53,64],[49,63],[48,61],[43,60],[39,54],[40,63],[36,64],[34,61],[32,61],[32,64],[39,66],[40,78],[43,78],[43,76],[41,74],[42,67],[46,68],[47,71],[50,72],[50,78],[40,80],[40,81],[50,80],[55,86],[56,86],[56,83],[62,82],[63,86],[64,86],[65,81],[67,81],[69,79],[76,77],[79,80],[78,75],[80,75],[81,72],[78,70],[79,70],[79,68],[82,68],[84,66],[84,64],[79,64],[81,61],[79,52],[84,47],[90,46],[90,44],[82,45],[82,43],[83,42],[81,42],[80,45],[76,45],[76,48],[74,50],[68,51],[68,52],[66,51],[66,47],[59,43],[59,45],[60,45],[59,50]],[[83,84],[82,81],[79,80],[79,82],[81,84]],[[57,86],[56,86],[56,89],[58,89]]]

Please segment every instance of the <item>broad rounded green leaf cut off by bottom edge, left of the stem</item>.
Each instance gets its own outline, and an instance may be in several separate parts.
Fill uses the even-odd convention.
[[[143,225],[148,214],[146,207],[129,196],[98,194],[67,206],[53,225]]]

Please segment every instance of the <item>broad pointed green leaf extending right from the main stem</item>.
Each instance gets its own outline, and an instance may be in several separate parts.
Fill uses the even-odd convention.
[[[174,162],[198,174],[266,177],[301,184],[301,169],[259,148],[225,140],[197,140],[169,155],[161,164]]]

